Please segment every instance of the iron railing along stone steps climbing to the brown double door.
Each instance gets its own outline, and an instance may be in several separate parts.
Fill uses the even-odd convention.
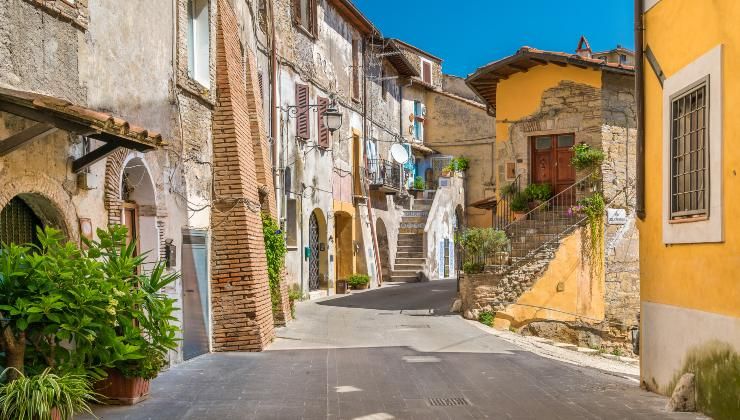
[[[535,203],[524,215],[512,215],[508,223],[503,223],[506,219],[502,218],[494,228],[506,233],[508,246],[474,254],[460,247],[461,265],[483,265],[486,272],[503,274],[525,264],[583,225],[586,216],[579,211],[578,200],[600,190],[599,187],[599,182],[589,175],[549,200]]]

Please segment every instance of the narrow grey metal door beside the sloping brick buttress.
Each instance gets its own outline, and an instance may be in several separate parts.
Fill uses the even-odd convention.
[[[208,353],[208,247],[203,231],[182,234],[183,358]]]

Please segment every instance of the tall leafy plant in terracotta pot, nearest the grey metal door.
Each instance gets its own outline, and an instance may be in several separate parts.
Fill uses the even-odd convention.
[[[178,328],[175,300],[162,293],[178,273],[166,273],[158,263],[148,273],[141,272],[144,255],[136,255],[135,244],[126,244],[126,228],[98,230],[98,242],[89,241],[89,250],[101,259],[105,277],[112,285],[115,305],[115,337],[111,349],[98,348],[96,362],[107,376],[95,383],[95,390],[106,402],[136,404],[149,395],[149,382],[166,365],[167,353],[177,348]]]

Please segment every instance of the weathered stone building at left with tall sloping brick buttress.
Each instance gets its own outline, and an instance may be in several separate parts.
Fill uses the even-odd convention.
[[[173,363],[273,334],[260,212],[276,206],[252,35],[265,37],[266,10],[237,3],[0,2],[1,239],[126,225],[148,263],[182,272],[166,290],[182,308]]]

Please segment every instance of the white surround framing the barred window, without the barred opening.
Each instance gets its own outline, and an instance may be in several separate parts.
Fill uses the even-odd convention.
[[[663,243],[689,244],[724,241],[722,198],[722,54],[718,45],[689,63],[663,84],[663,168],[662,168],[662,224]],[[696,220],[671,220],[671,100],[677,93],[707,78],[709,189],[708,216]]]

